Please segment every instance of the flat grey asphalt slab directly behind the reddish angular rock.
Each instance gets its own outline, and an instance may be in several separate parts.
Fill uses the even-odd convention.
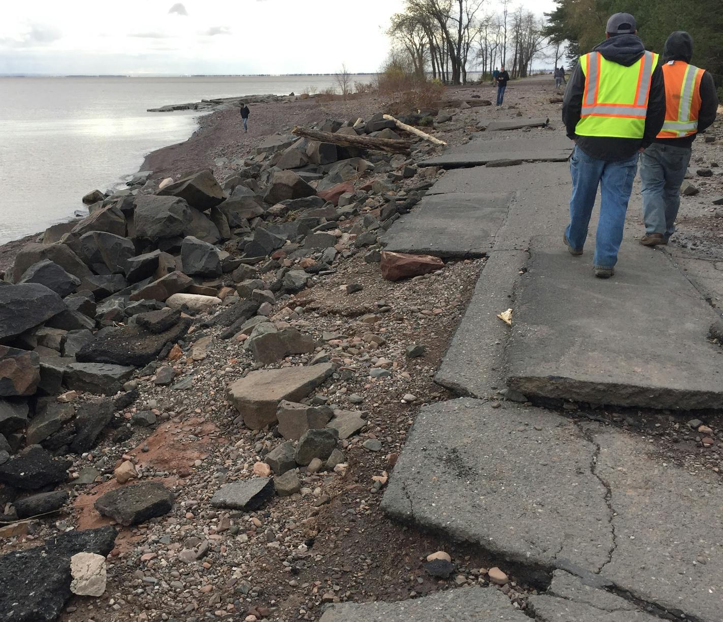
[[[382,236],[385,250],[464,259],[492,247],[513,195],[456,193],[424,197]]]

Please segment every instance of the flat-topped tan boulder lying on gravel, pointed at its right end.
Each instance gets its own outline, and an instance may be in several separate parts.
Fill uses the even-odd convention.
[[[309,367],[285,367],[281,370],[250,372],[228,387],[228,400],[244,417],[252,430],[276,422],[282,400],[299,401],[314,391],[333,373],[330,363]]]

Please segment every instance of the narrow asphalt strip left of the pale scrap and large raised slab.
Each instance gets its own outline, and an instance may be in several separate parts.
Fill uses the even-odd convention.
[[[474,294],[442,358],[435,381],[458,395],[484,397],[505,387],[504,346],[508,325],[497,314],[510,307],[527,253],[492,251]]]

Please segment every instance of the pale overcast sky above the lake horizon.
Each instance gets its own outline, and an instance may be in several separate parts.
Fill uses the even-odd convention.
[[[0,74],[375,72],[403,0],[0,0]],[[495,12],[497,0],[487,0]],[[513,3],[549,11],[553,0]]]

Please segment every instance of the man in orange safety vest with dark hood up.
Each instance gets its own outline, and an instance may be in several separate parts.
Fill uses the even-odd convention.
[[[663,48],[666,111],[663,129],[640,156],[643,180],[645,246],[667,244],[675,232],[680,208],[680,184],[690,162],[698,132],[716,119],[718,95],[713,76],[690,64],[693,38],[682,30],[672,33]]]

